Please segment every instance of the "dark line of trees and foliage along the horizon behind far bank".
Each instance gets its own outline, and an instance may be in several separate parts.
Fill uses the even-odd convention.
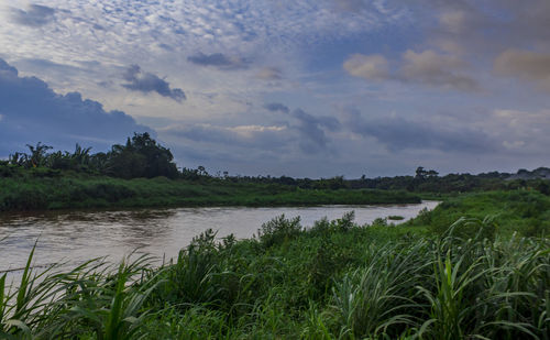
[[[67,172],[90,176],[110,176],[119,178],[153,178],[164,176],[193,182],[223,179],[233,184],[284,185],[300,189],[339,190],[339,189],[381,189],[406,190],[410,193],[452,194],[485,190],[509,190],[534,188],[550,195],[550,168],[539,167],[532,172],[519,169],[517,174],[448,174],[439,176],[433,169],[419,166],[415,175],[356,179],[343,176],[331,178],[293,178],[288,176],[241,176],[217,172],[212,175],[204,166],[196,169],[183,167],[180,171],[173,162],[170,151],[160,145],[148,133],[135,133],[125,145],[112,145],[107,153],[90,153],[90,147],[76,145],[73,153],[50,152],[52,146],[38,143],[28,145],[29,153],[14,153],[8,161],[0,161],[0,177],[18,177],[21,174],[34,176],[69,176]]]

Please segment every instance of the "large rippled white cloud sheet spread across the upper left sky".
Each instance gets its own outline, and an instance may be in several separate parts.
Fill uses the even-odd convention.
[[[55,11],[55,22],[29,26],[10,20],[14,9],[29,7],[4,0],[0,46],[23,75],[36,75],[57,91],[101,98],[110,109],[186,120],[219,118],[246,112],[248,103],[260,101],[266,91],[294,91],[309,72],[302,62],[308,53],[301,50],[305,44],[356,36],[399,23],[405,15],[382,4],[353,13],[334,11],[329,2],[48,0],[43,4]],[[197,67],[188,57],[198,53],[246,61],[246,67],[237,75],[223,74],[220,67]],[[28,59],[66,67],[28,67],[23,65]],[[168,76],[170,85],[185,89],[185,103],[128,94],[120,75],[133,64]],[[196,95],[205,91],[218,96],[212,100]]]

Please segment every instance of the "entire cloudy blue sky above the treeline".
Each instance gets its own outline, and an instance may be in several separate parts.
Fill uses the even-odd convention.
[[[548,0],[2,0],[0,157],[151,133],[180,167],[550,166]]]

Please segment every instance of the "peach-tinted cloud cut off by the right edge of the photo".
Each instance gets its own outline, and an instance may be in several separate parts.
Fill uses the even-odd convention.
[[[550,90],[550,53],[507,50],[494,63],[497,74],[536,81]]]

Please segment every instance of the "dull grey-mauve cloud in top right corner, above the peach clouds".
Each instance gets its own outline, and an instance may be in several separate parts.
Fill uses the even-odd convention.
[[[436,10],[439,19],[439,26],[429,29],[429,41],[443,48],[475,51],[480,57],[509,46],[549,46],[550,2],[547,0],[421,0],[411,7],[419,22],[430,22],[427,6]]]

